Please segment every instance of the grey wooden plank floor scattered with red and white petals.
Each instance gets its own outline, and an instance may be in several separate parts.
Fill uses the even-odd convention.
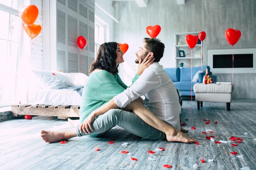
[[[172,170],[195,170],[194,164],[198,170],[256,170],[255,103],[256,99],[235,99],[227,111],[225,103],[204,102],[198,110],[197,102],[183,101],[183,127],[200,145],[145,140],[120,127],[110,130],[106,137],[75,137],[66,144],[48,144],[40,138],[40,130],[71,128],[67,120],[35,116],[32,120],[20,117],[0,121],[0,170],[165,170],[165,164],[173,166]],[[203,119],[211,123],[205,124]],[[243,141],[215,144],[206,139],[211,135],[215,141],[229,141],[231,136]],[[108,144],[109,141],[115,143]],[[124,142],[128,145],[123,146]],[[95,146],[100,150],[96,151]],[[155,151],[156,148],[165,151]],[[122,154],[124,150],[132,155]],[[155,153],[149,154],[149,150]]]

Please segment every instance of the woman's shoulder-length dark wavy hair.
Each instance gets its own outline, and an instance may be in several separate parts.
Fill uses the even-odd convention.
[[[110,73],[118,73],[117,64],[117,42],[105,42],[99,46],[96,59],[90,67],[89,73],[92,73],[96,68],[106,70]]]

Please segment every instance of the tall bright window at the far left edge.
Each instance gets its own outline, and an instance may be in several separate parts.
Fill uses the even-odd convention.
[[[16,100],[21,24],[17,3],[17,0],[0,0],[0,106]]]

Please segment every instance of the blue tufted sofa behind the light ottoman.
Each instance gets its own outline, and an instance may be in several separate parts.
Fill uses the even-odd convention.
[[[203,77],[206,74],[206,68],[208,68],[209,74],[213,79],[213,83],[217,81],[216,75],[212,75],[209,66],[203,66],[202,68],[204,72],[198,73],[199,71],[201,71],[201,66],[192,67],[192,79],[194,78],[195,74],[198,73],[198,81],[192,81],[192,96],[195,96],[193,86],[196,83],[203,82]],[[182,96],[191,96],[191,67],[164,68],[164,70],[171,77],[176,88],[179,89]]]

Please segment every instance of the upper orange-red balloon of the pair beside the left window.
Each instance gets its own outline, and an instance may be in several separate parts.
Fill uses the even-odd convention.
[[[27,7],[20,7],[19,15],[25,25],[31,26],[38,17],[38,8],[33,4],[28,5]]]

